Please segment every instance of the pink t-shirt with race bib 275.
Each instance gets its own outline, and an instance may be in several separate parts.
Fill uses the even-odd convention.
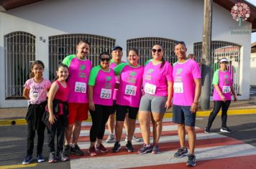
[[[144,67],[132,67],[130,64],[124,63],[118,65],[114,71],[120,76],[116,105],[139,107]]]

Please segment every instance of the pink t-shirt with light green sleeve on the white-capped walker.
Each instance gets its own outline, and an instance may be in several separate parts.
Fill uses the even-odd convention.
[[[219,89],[222,92],[222,95],[226,97],[226,100],[231,100],[231,85],[232,85],[232,77],[229,71],[222,72],[219,69],[214,73],[213,84],[219,85]],[[221,101],[221,97],[219,97],[218,93],[214,87],[214,95],[213,100]]]

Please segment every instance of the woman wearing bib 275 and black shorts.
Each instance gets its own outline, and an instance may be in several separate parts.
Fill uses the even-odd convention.
[[[114,68],[116,75],[119,75],[119,89],[116,94],[116,143],[112,151],[119,152],[121,149],[120,140],[124,126],[124,119],[128,114],[127,144],[128,152],[133,152],[132,136],[134,135],[137,113],[140,106],[142,75],[144,67],[140,66],[139,52],[137,49],[129,49],[128,63],[119,64]],[[127,113],[128,112],[128,113]]]

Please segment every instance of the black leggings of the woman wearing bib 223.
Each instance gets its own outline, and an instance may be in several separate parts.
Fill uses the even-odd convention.
[[[105,105],[95,105],[95,111],[90,110],[91,120],[93,122],[90,130],[90,141],[92,143],[96,142],[96,138],[103,139],[105,125],[112,110],[112,106]]]

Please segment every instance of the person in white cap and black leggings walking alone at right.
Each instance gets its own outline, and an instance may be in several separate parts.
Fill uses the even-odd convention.
[[[231,93],[234,97],[234,101],[237,101],[237,95],[234,92],[232,83],[232,77],[230,72],[227,70],[228,60],[222,58],[219,61],[219,69],[214,72],[214,78],[212,84],[214,84],[214,110],[209,115],[208,124],[204,132],[210,132],[211,125],[214,122],[216,115],[221,109],[221,132],[232,132],[227,127],[227,110],[229,109],[230,102],[232,100]]]

